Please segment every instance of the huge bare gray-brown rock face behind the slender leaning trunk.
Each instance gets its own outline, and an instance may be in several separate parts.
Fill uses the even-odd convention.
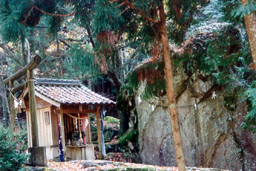
[[[256,170],[256,137],[241,128],[247,105],[239,96],[239,85],[220,87],[209,75],[188,77],[182,68],[173,75],[186,166]],[[176,165],[167,97],[138,103],[137,96],[136,109],[142,162]]]

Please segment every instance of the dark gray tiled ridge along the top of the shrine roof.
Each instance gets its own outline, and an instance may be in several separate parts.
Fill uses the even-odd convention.
[[[79,86],[81,84],[79,80],[66,80],[66,79],[52,79],[52,78],[35,78],[36,85],[60,85],[60,86]]]

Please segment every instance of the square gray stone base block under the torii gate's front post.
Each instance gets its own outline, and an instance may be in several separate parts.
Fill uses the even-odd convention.
[[[28,152],[31,154],[29,156],[31,166],[47,167],[45,147],[30,147],[28,148]]]

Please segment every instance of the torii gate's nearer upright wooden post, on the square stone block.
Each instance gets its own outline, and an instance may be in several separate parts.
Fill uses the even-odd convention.
[[[27,70],[28,75],[28,94],[29,94],[29,111],[31,118],[31,137],[32,147],[38,147],[38,127],[36,119],[36,95],[35,95],[35,81],[33,80],[33,70]]]

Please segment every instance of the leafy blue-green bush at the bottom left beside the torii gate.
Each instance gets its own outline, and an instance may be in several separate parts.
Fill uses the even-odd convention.
[[[23,133],[23,131],[21,131]],[[3,127],[0,124],[0,170],[16,171],[23,170],[22,163],[28,160],[29,155],[25,154],[26,135],[15,135],[10,128]],[[20,151],[17,151],[17,145]]]

